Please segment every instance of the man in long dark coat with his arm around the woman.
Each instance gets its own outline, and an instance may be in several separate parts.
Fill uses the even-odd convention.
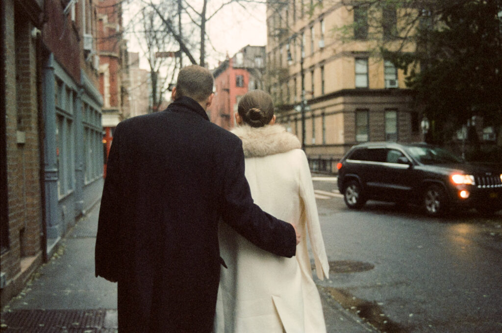
[[[295,255],[294,227],[253,203],[240,139],[206,115],[213,77],[182,69],[166,110],[118,124],[107,163],[96,276],[118,281],[120,332],[211,332],[221,218],[250,242]]]

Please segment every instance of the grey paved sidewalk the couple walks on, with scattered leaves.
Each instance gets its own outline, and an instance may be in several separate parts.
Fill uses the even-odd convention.
[[[2,309],[2,333],[116,332],[116,284],[94,277],[98,212],[99,203],[77,221],[50,261]],[[374,331],[330,296],[321,293],[321,299],[328,333]]]

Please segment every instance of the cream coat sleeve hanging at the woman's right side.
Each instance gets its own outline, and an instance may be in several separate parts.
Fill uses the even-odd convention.
[[[305,212],[302,215],[305,218],[307,226],[312,254],[315,261],[317,277],[323,279],[329,277],[329,264],[322,239],[321,225],[319,223],[319,215],[317,212],[317,204],[315,201],[314,186],[312,184],[312,176],[305,153],[301,154],[302,161],[300,166],[300,197],[304,203]]]

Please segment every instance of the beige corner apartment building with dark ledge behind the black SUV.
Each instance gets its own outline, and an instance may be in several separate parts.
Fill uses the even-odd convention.
[[[399,13],[383,15],[385,36]],[[270,1],[267,27],[268,90],[278,121],[300,138],[313,170],[334,172],[359,142],[422,140],[404,73],[375,55],[369,36],[376,28],[364,9],[334,0]]]

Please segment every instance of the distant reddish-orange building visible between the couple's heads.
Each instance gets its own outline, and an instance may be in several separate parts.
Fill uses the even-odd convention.
[[[240,97],[253,89],[264,89],[265,46],[245,46],[213,70],[215,94],[207,112],[214,124],[230,130]]]

